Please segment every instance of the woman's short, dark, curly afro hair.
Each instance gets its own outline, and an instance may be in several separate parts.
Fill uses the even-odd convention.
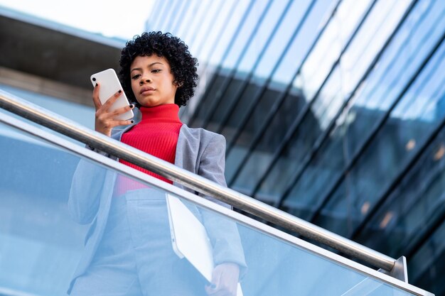
[[[195,94],[194,88],[198,80],[198,60],[192,57],[188,46],[181,39],[174,37],[171,33],[149,32],[136,35],[122,48],[119,65],[119,78],[125,94],[130,102],[138,108],[141,106],[136,101],[132,91],[130,77],[130,66],[137,56],[158,55],[165,57],[170,64],[173,74],[173,84],[178,86],[175,95],[175,104],[186,106],[188,99]]]

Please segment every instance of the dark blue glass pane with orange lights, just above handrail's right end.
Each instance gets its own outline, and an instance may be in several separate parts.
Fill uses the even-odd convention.
[[[444,102],[445,98],[442,98]],[[422,152],[422,157],[409,170],[387,201],[360,231],[360,243],[389,256],[404,253],[404,249],[419,242],[419,236],[434,223],[437,209],[444,204],[445,130]],[[360,205],[368,214],[370,202]],[[370,239],[370,236],[374,239]]]

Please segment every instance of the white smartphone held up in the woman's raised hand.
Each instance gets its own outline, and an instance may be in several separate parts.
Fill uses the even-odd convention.
[[[113,69],[107,69],[102,72],[95,73],[91,75],[90,80],[93,87],[95,87],[96,83],[100,84],[99,99],[102,104],[105,104],[105,102],[107,102],[107,100],[112,97],[113,94],[119,91],[119,89],[122,89],[119,78],[117,78],[116,72]],[[130,103],[125,95],[124,89],[122,89],[122,94],[119,98],[117,98],[116,102],[112,104],[109,110],[113,111],[115,109],[128,106],[129,104]],[[124,114],[117,116],[116,119],[128,120],[132,119],[133,116],[133,111],[129,110]]]

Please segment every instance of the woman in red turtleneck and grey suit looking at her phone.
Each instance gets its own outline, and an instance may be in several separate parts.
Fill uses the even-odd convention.
[[[119,64],[122,87],[132,105],[110,112],[122,90],[101,104],[96,84],[95,130],[225,185],[224,137],[188,128],[178,117],[179,107],[193,97],[198,79],[198,62],[187,45],[169,33],[143,33],[127,42]],[[134,107],[141,111],[138,124],[114,119]],[[117,126],[127,127],[114,132]],[[190,263],[173,253],[161,192],[81,161],[68,205],[75,221],[92,224],[68,290],[71,295],[236,295],[246,265],[235,224],[192,209],[213,244],[215,269],[212,283],[205,285]]]

